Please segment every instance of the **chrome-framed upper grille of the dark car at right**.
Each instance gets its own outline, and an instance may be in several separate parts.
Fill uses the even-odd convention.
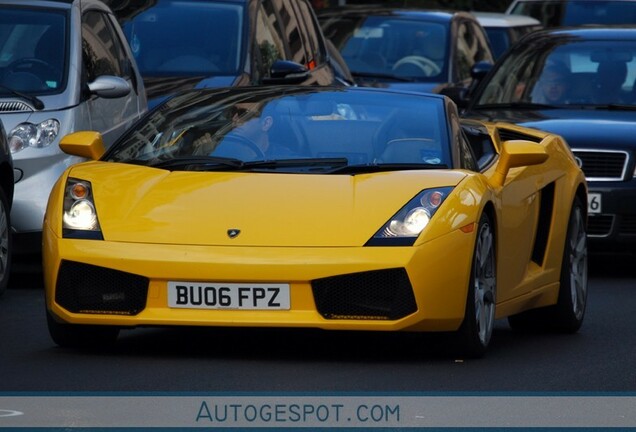
[[[595,181],[623,180],[629,160],[627,152],[572,149],[585,177]]]

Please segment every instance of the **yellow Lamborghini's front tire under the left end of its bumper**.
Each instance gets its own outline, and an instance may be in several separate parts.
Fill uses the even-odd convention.
[[[119,336],[118,327],[60,323],[48,310],[46,323],[53,342],[63,348],[106,349]]]

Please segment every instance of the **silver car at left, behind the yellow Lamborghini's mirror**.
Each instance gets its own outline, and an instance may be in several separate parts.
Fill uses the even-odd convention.
[[[0,119],[13,154],[16,253],[40,253],[53,183],[82,159],[59,148],[77,130],[106,146],[147,109],[110,10],[97,0],[0,0]]]

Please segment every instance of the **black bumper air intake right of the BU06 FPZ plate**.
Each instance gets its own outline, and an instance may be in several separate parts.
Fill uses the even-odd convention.
[[[318,312],[326,319],[396,320],[417,310],[403,268],[316,279],[311,286]]]

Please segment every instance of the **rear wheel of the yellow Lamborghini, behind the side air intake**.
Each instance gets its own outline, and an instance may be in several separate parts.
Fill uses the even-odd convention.
[[[521,331],[575,333],[583,324],[587,305],[587,231],[585,211],[576,198],[570,211],[557,303],[508,317],[510,327]]]

